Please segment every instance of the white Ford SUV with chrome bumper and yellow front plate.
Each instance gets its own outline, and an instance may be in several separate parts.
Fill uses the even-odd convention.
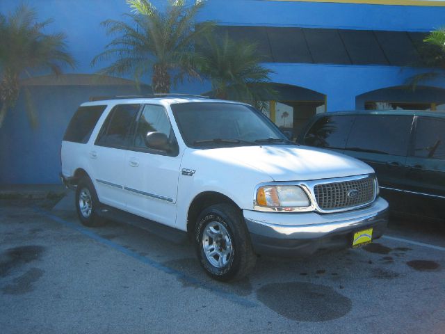
[[[387,225],[370,166],[296,145],[238,102],[84,103],[63,138],[61,177],[84,225],[124,212],[187,232],[218,280],[247,275],[258,254],[361,246]]]

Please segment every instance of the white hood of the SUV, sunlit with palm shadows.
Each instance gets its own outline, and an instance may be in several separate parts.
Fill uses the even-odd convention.
[[[242,146],[195,154],[261,170],[275,181],[306,181],[374,173],[362,161],[337,152],[296,145]]]

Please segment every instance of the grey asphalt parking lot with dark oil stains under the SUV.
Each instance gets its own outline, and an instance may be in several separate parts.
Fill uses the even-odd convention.
[[[122,223],[84,228],[53,205],[0,200],[3,334],[445,333],[445,232],[434,224],[393,219],[364,248],[261,257],[250,278],[223,284],[191,245]]]

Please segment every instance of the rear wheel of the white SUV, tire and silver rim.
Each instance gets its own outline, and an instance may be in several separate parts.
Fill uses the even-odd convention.
[[[89,177],[82,177],[77,184],[74,204],[76,205],[77,215],[82,225],[88,226],[89,228],[104,225],[104,218],[97,215],[99,198],[97,198],[95,186]]]

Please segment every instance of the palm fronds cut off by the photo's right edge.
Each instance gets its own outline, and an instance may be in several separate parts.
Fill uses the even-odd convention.
[[[437,77],[445,77],[445,28],[432,31],[424,40],[419,51],[421,54],[420,67],[430,67],[431,70],[416,74],[407,79],[407,84],[415,90],[416,86]],[[437,69],[439,71],[437,71]]]

